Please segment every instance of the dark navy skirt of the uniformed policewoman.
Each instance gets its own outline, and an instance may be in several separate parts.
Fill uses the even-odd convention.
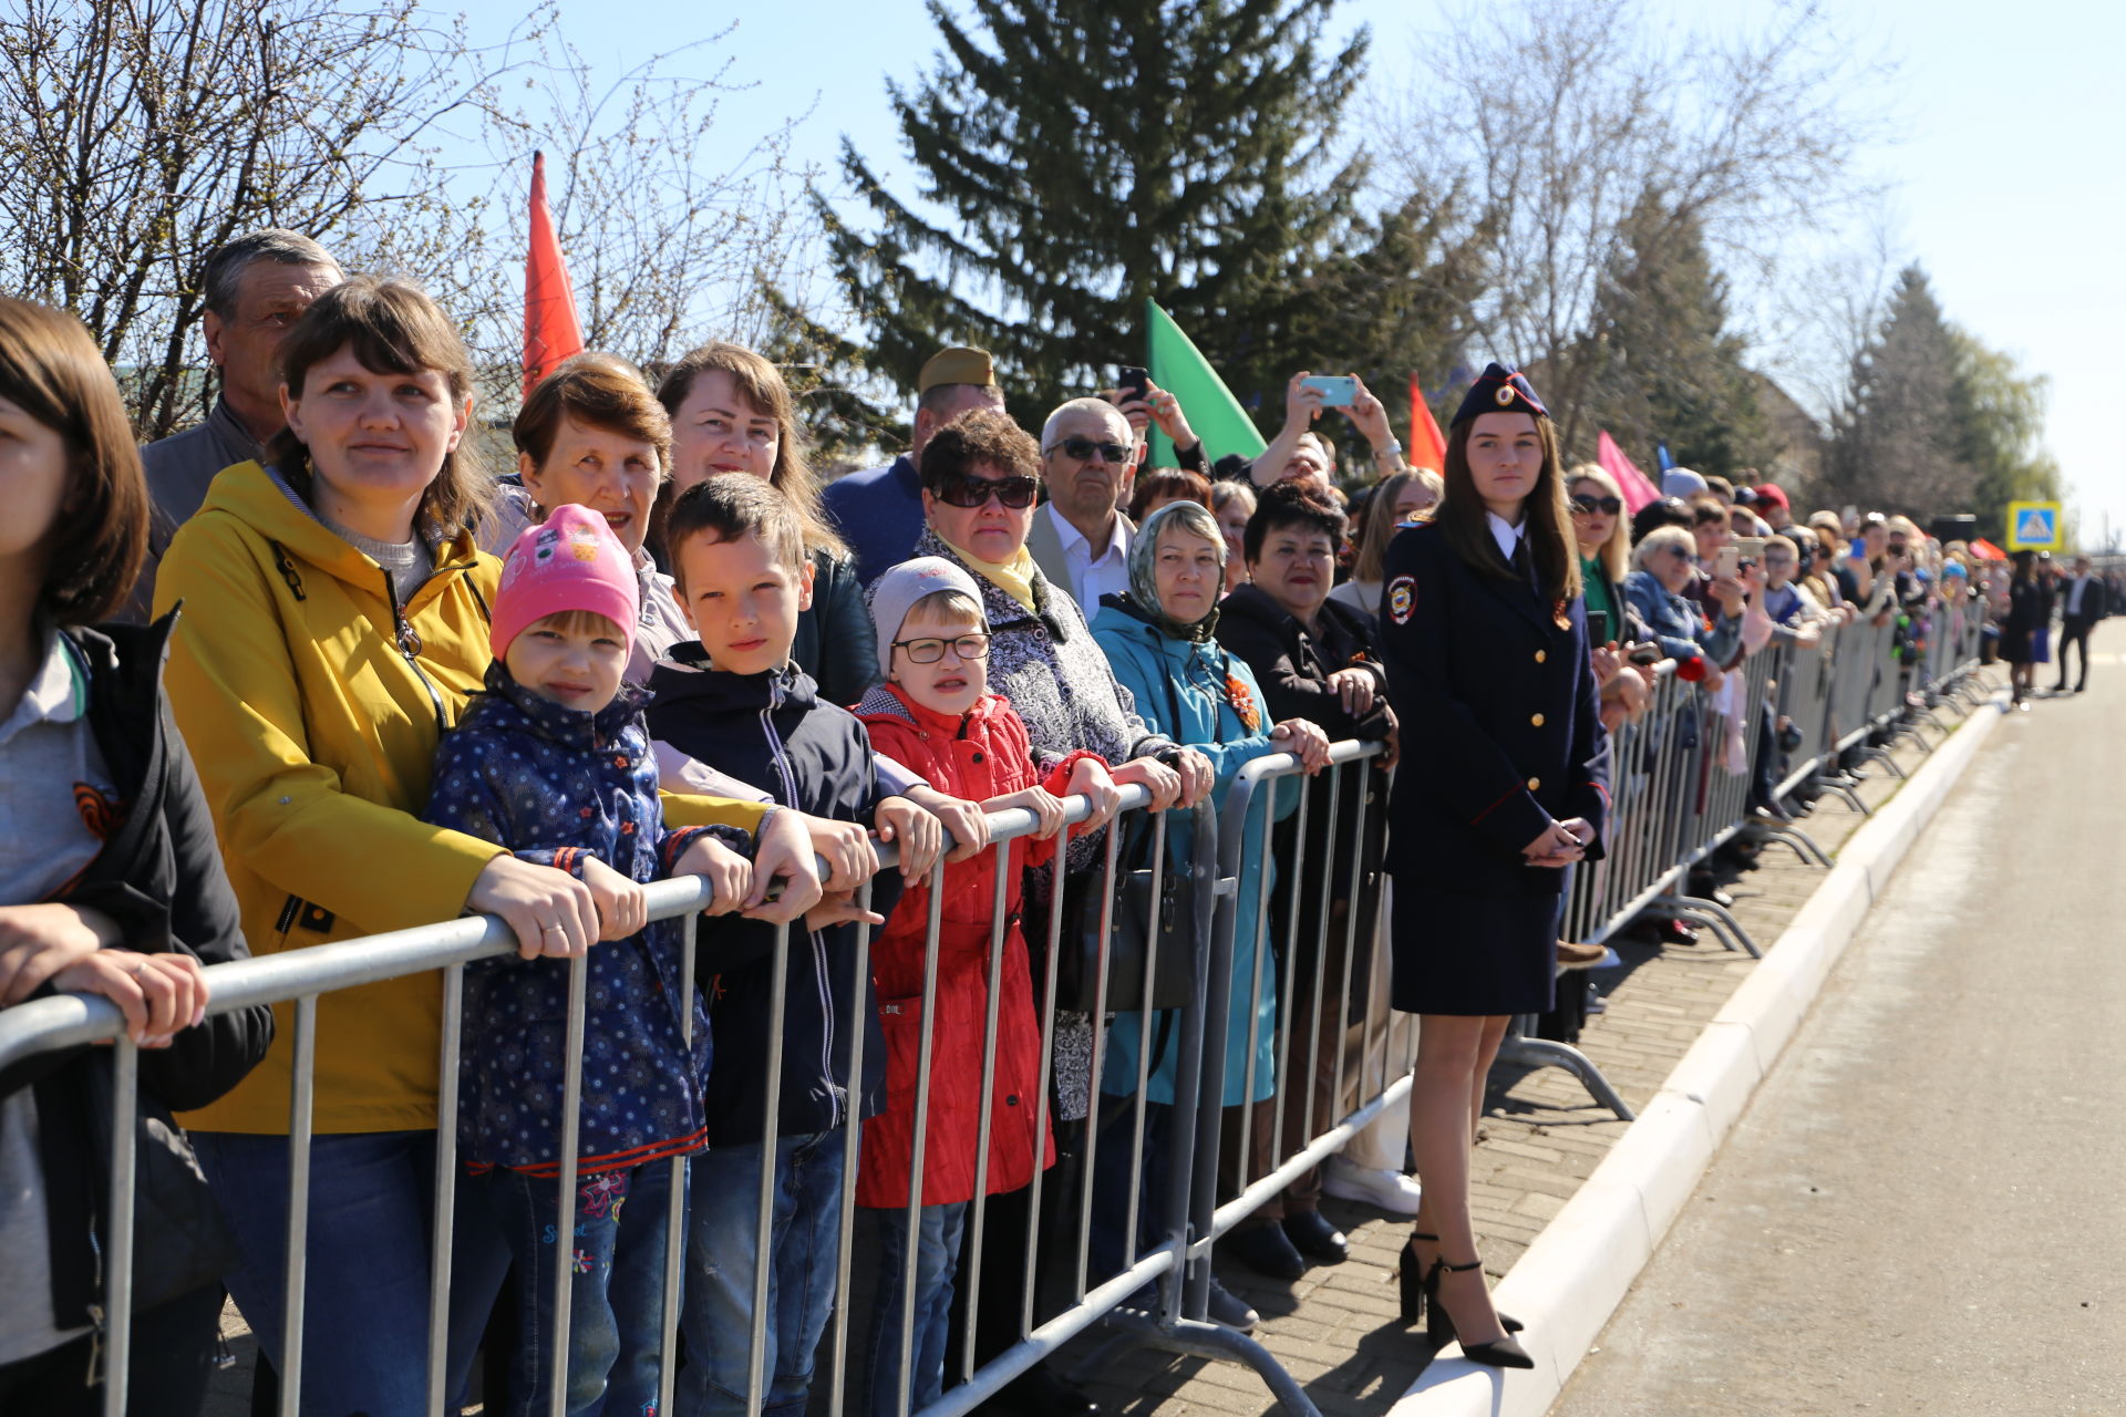
[[[1395,882],[1390,1001],[1403,1013],[1546,1013],[1565,892],[1475,897]]]

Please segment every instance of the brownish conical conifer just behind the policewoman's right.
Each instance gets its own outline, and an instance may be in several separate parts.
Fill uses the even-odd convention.
[[[1635,459],[1667,442],[1697,472],[1771,465],[1777,436],[1743,365],[1748,340],[1728,327],[1726,278],[1699,221],[1648,193],[1620,238],[1597,302],[1575,444],[1592,446],[1607,429]]]

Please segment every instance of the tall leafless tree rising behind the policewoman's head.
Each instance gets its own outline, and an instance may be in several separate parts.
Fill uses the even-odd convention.
[[[1703,232],[1731,274],[1769,278],[1784,234],[1843,208],[1884,66],[1856,59],[1820,0],[1760,32],[1673,34],[1643,0],[1469,8],[1420,45],[1429,83],[1386,100],[1418,191],[1461,185],[1490,223],[1490,353],[1543,365],[1567,442],[1603,351],[1603,272],[1646,198]],[[1639,232],[1658,259],[1660,232]]]

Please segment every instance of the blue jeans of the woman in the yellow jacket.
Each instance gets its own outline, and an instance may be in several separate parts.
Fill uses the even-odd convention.
[[[240,1260],[223,1275],[259,1347],[287,1370],[287,1137],[191,1132]],[[427,1281],[436,1132],[340,1132],[310,1141],[302,1411],[427,1413]],[[497,1260],[500,1256],[500,1260]],[[455,1209],[451,1273],[508,1262],[485,1205]],[[449,1394],[463,1392],[493,1287],[451,1285]]]

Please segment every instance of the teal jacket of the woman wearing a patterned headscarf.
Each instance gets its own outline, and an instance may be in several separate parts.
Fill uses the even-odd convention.
[[[1093,620],[1093,639],[1108,652],[1114,678],[1120,680],[1137,701],[1137,714],[1152,733],[1165,733],[1176,744],[1186,744],[1218,771],[1212,801],[1222,807],[1233,788],[1233,775],[1242,767],[1278,752],[1269,741],[1269,707],[1263,701],[1263,686],[1254,671],[1218,646],[1216,639],[1178,639],[1146,618],[1127,597],[1108,595],[1101,599],[1099,616]],[[1239,710],[1227,690],[1227,682],[1246,690],[1254,705],[1256,722],[1242,722]],[[1295,788],[1278,792],[1256,792],[1256,803],[1276,797],[1276,816],[1288,816],[1299,803]],[[1195,822],[1184,814],[1174,814],[1167,822],[1167,869],[1188,863],[1193,852]],[[1254,1015],[1261,1030],[1254,1045],[1254,1098],[1276,1092],[1276,1037],[1278,1037],[1278,967],[1273,941],[1263,947],[1263,973],[1254,977],[1254,922],[1256,901],[1263,894],[1263,871],[1271,871],[1276,888],[1276,867],[1263,850],[1263,807],[1248,814],[1248,831],[1239,852],[1239,899],[1233,911],[1233,992],[1227,1001],[1227,1043],[1225,1043],[1225,1105],[1235,1107],[1250,1100],[1248,1086],[1248,998],[1254,996]],[[1182,865],[1180,869],[1186,869]],[[1252,988],[1250,988],[1252,984]],[[1131,1096],[1137,1090],[1137,1043],[1142,1026],[1135,1013],[1118,1013],[1108,1030],[1108,1064],[1101,1092],[1110,1096]],[[1165,1032],[1171,1041],[1161,1047]],[[1148,1098],[1152,1103],[1174,1100],[1176,1052],[1180,1049],[1178,1020],[1161,1028],[1152,1020],[1152,1073]]]

